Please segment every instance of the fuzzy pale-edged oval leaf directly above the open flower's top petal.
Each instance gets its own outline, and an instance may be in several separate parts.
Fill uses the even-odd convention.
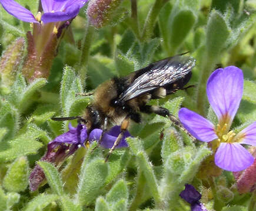
[[[216,59],[220,56],[220,52],[226,45],[230,33],[231,29],[225,21],[225,17],[217,11],[212,11],[208,19],[206,33],[206,50],[211,59]]]

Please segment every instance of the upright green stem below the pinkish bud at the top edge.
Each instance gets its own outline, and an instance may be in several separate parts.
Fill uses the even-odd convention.
[[[91,47],[93,36],[94,36],[94,28],[89,25],[89,22],[87,22],[85,36],[84,36],[84,40],[82,42],[82,49],[81,49],[82,53],[81,53],[81,57],[80,57],[79,67],[78,67],[79,68],[78,75],[81,79],[82,86],[85,85],[85,77],[87,74],[89,50]]]

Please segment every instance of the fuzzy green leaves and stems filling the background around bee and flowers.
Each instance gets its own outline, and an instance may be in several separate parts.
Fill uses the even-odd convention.
[[[17,2],[36,14],[38,1]],[[135,138],[128,138],[129,147],[116,150],[107,163],[106,150],[91,150],[95,143],[79,148],[58,169],[38,162],[48,184],[29,191],[29,172],[47,143],[68,130],[68,122],[51,117],[81,115],[91,97],[76,93],[164,57],[189,51],[197,59],[189,82],[196,87],[152,104],[174,115],[187,107],[214,122],[206,81],[217,67],[235,65],[245,81],[232,127],[256,120],[255,0],[138,0],[137,13],[131,2],[136,1],[122,1],[100,29],[88,24],[82,8],[62,39],[49,78],[30,84],[21,74],[26,41],[23,47],[16,43],[20,37],[26,40],[31,28],[0,8],[0,52],[5,55],[0,63],[0,210],[189,210],[178,196],[185,183],[202,193],[208,210],[256,209],[256,193],[240,195],[231,172],[199,179],[198,169],[211,150],[155,115],[131,125]]]

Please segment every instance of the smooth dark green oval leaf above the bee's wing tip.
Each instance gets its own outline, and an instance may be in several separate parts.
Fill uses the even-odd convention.
[[[196,16],[190,10],[181,10],[175,14],[171,22],[170,42],[172,52],[176,50],[184,42],[190,30],[195,24]]]

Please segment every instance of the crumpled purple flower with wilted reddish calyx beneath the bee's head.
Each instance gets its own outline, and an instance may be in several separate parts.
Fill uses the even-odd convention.
[[[40,161],[51,162],[55,166],[62,164],[62,162],[77,151],[79,147],[84,147],[85,140],[88,138],[87,128],[85,125],[78,124],[77,127],[72,127],[69,123],[69,131],[59,135],[53,141],[48,143],[46,154],[40,159]],[[121,132],[120,126],[114,126],[109,131],[105,132],[101,146],[104,148],[111,148]],[[94,129],[89,134],[89,142],[98,141],[101,137],[102,130]],[[128,131],[124,133],[118,147],[128,147],[125,138],[131,136]],[[29,188],[32,191],[38,189],[39,185],[44,181],[45,175],[42,168],[39,165],[35,165],[35,168],[29,175]]]

